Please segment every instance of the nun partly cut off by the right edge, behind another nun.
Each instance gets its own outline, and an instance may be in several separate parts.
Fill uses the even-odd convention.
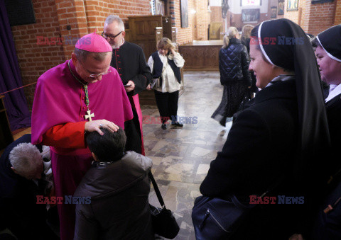
[[[335,160],[327,188],[327,197],[318,211],[311,239],[341,239],[341,25],[319,33],[313,41],[321,78],[330,84],[329,95],[325,98],[330,141],[332,149],[328,154]]]

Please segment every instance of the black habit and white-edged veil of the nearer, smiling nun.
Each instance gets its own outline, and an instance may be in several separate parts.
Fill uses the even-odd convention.
[[[301,27],[285,18],[265,21],[257,35],[276,38],[275,45],[260,45],[261,52],[296,76],[277,76],[237,115],[200,192],[245,202],[271,188],[268,196],[304,197],[303,205],[254,207],[232,238],[288,239],[307,227],[311,188],[327,178],[328,163],[318,155],[330,142],[327,118],[315,55]]]

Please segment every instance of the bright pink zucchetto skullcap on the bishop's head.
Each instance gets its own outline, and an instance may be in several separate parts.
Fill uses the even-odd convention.
[[[105,40],[101,35],[96,33],[90,33],[80,38],[75,47],[88,52],[112,52],[112,47],[109,42]]]

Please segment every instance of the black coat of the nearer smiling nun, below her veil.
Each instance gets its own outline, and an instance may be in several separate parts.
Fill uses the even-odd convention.
[[[257,93],[235,118],[222,152],[211,162],[200,185],[202,195],[302,196],[293,181],[298,149],[298,102],[295,81],[278,81]],[[275,186],[277,183],[281,184]],[[233,239],[288,239],[301,230],[303,205],[261,205],[251,211]]]

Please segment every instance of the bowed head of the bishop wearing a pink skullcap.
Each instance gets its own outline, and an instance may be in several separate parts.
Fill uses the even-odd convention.
[[[77,74],[87,83],[94,83],[107,74],[112,60],[112,47],[94,32],[77,41],[71,57]]]

